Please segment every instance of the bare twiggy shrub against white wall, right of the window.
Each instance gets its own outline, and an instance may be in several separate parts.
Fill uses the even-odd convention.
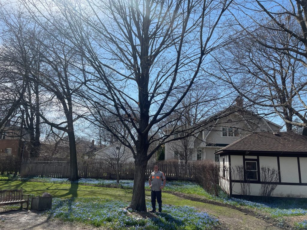
[[[259,191],[259,196],[263,201],[268,201],[279,182],[278,170],[270,167],[261,167],[262,183]]]

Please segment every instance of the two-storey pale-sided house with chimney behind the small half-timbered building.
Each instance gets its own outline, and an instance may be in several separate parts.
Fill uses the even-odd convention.
[[[196,131],[195,136],[189,138],[189,148],[192,151],[189,160],[210,159],[218,162],[219,156],[215,152],[243,136],[252,132],[280,130],[280,125],[243,109],[242,98],[236,101],[236,105],[209,117],[204,121],[206,125],[201,128],[204,131]],[[178,158],[177,146],[181,146],[180,140],[165,144],[165,160]]]

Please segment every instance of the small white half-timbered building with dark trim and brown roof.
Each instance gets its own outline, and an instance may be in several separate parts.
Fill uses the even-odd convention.
[[[261,186],[268,182],[277,185],[274,197],[307,197],[307,136],[293,132],[252,133],[216,155],[220,155],[220,186],[232,197],[246,195],[246,185],[247,195],[259,196]],[[243,169],[243,178],[235,170],[238,167]],[[277,180],[265,180],[262,167],[275,169]]]

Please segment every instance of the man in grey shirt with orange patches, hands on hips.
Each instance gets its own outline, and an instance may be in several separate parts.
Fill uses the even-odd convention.
[[[162,212],[162,200],[161,200],[161,189],[164,188],[166,184],[166,178],[164,173],[159,171],[159,166],[157,164],[153,167],[154,172],[152,172],[149,176],[149,187],[151,188],[151,206],[153,210],[150,213],[156,212],[156,198],[159,205],[159,213]],[[163,180],[163,186],[161,185]]]

